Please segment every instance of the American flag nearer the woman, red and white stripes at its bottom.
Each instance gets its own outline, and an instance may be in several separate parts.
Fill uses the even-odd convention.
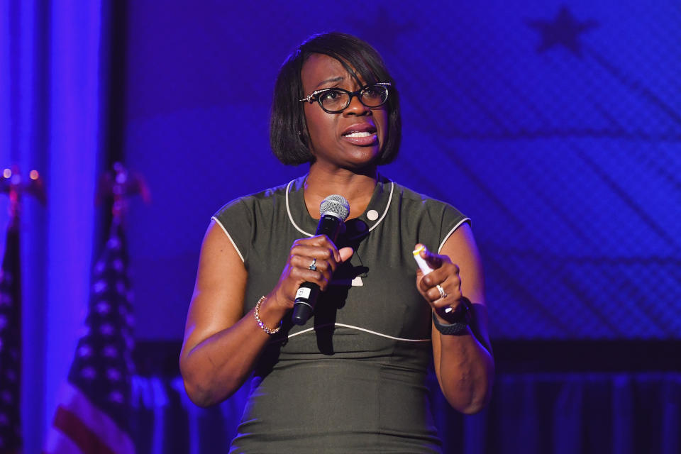
[[[47,454],[131,454],[133,313],[118,217],[96,262],[84,332],[58,399]]]

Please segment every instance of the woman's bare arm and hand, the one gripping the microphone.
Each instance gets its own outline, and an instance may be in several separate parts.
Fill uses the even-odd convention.
[[[275,328],[293,307],[305,281],[328,287],[338,264],[353,255],[326,236],[296,240],[279,282],[260,306],[260,319]],[[315,258],[316,271],[309,269]],[[243,314],[248,272],[231,240],[211,221],[201,245],[199,272],[187,314],[180,370],[187,395],[197,405],[221,402],[253,371],[270,336],[258,326],[253,310]]]

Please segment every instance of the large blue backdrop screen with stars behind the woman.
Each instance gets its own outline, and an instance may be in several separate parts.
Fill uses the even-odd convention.
[[[384,175],[472,218],[494,338],[681,337],[675,1],[128,13],[125,153],[153,192],[130,217],[138,338],[182,336],[216,209],[306,172],[270,153],[272,87],[294,45],[333,30],[375,45],[397,79],[404,141]]]

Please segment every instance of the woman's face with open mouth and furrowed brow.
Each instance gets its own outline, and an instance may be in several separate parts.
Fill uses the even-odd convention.
[[[301,80],[305,96],[324,88],[349,92],[361,88],[341,62],[323,54],[313,54],[304,62]],[[328,114],[317,102],[306,102],[304,112],[314,165],[358,169],[376,162],[388,131],[385,104],[369,108],[353,96],[350,106],[339,114]]]

